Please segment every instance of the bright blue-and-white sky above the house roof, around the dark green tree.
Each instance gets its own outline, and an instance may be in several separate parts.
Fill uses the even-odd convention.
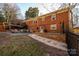
[[[25,18],[25,12],[29,7],[38,7],[39,15],[50,13],[59,7],[59,4],[54,4],[54,6],[52,7],[52,3],[17,3],[17,5],[20,8],[21,14],[23,15],[23,19]]]

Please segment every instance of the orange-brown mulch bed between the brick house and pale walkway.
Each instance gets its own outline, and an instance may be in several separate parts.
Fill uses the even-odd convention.
[[[59,33],[35,33],[35,34],[45,38],[53,39],[59,42],[64,42],[64,43],[66,42],[65,34],[59,34]]]

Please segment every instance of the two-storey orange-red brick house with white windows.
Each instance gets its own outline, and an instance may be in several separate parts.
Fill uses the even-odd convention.
[[[57,10],[25,22],[31,32],[63,32],[69,28],[69,9]]]

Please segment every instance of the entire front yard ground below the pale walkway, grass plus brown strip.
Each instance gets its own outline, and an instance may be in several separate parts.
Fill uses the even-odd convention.
[[[0,33],[0,56],[66,56],[68,53],[26,35]]]

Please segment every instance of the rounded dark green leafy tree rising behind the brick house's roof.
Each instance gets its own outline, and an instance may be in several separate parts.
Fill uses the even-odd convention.
[[[26,19],[34,18],[34,17],[38,16],[38,14],[39,14],[38,8],[29,7],[28,11],[25,12],[25,18]]]

